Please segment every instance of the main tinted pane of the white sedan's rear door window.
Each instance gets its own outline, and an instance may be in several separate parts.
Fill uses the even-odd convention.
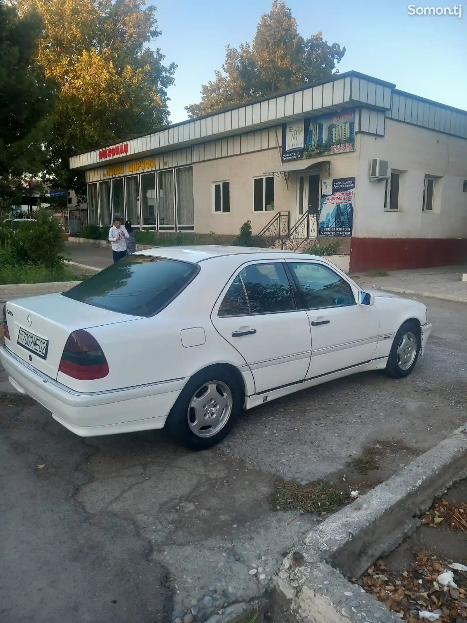
[[[292,289],[282,264],[253,264],[240,272],[252,313],[295,309]]]

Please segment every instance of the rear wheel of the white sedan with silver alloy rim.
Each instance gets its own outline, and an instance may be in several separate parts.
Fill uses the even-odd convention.
[[[229,366],[209,366],[194,374],[166,419],[172,439],[191,450],[219,444],[237,424],[244,391]]]

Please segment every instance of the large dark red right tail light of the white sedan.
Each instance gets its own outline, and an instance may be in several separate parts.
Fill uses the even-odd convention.
[[[107,376],[108,363],[97,340],[87,331],[80,329],[70,333],[59,371],[73,379],[92,381]]]

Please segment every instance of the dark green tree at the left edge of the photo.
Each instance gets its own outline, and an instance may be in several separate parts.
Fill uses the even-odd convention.
[[[45,117],[56,85],[35,60],[42,34],[39,14],[20,17],[0,0],[0,196],[11,201],[25,174],[44,166]]]

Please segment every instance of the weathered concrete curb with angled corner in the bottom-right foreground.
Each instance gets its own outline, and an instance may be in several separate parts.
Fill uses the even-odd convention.
[[[466,475],[467,425],[309,532],[273,580],[280,598],[304,623],[400,621],[345,577],[359,577],[390,553],[433,499]]]

